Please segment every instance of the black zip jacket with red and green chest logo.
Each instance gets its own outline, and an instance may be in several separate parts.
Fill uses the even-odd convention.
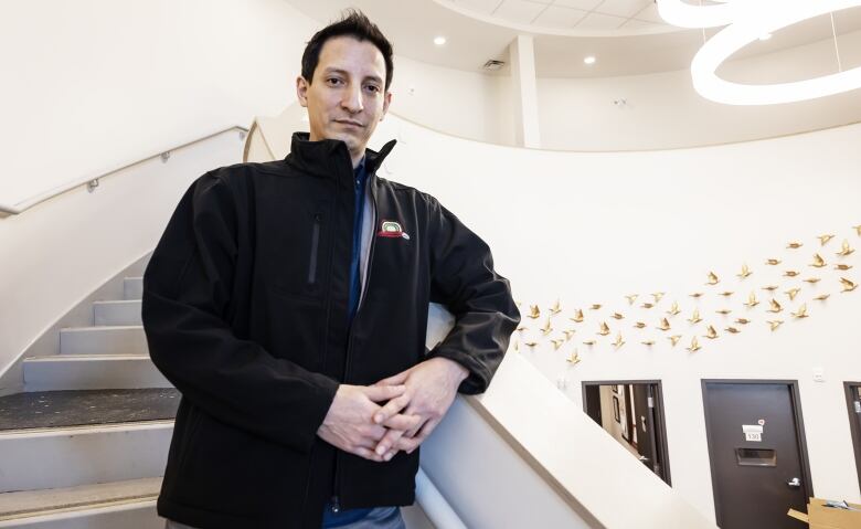
[[[182,393],[160,516],[317,529],[332,496],[343,509],[410,505],[418,451],[374,463],[317,436],[338,384],[445,357],[470,372],[460,392],[488,387],[520,319],[508,281],[433,197],[375,176],[393,146],[365,157],[376,221],[349,327],[355,191],[342,141],[294,135],[285,160],[213,170],[180,201],[144,276],[149,352]],[[457,322],[426,353],[431,301]]]

